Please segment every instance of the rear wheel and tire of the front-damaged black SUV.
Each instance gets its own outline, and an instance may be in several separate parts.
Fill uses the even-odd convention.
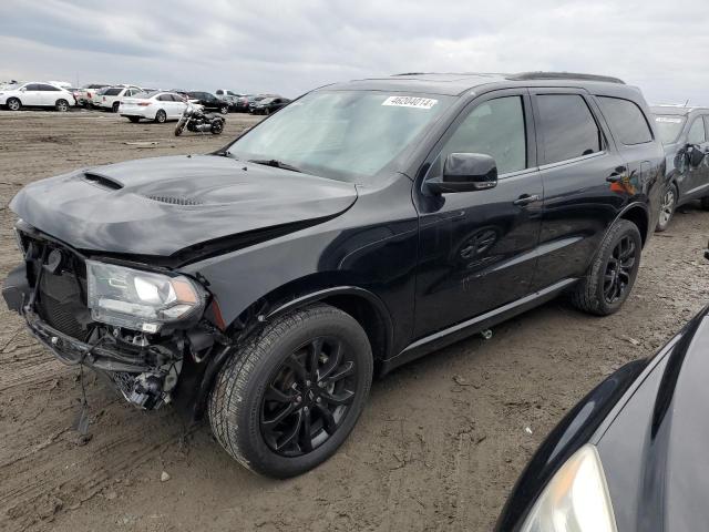
[[[635,284],[641,249],[638,227],[633,222],[619,219],[603,239],[586,276],[576,285],[573,305],[596,316],[618,311]]]

